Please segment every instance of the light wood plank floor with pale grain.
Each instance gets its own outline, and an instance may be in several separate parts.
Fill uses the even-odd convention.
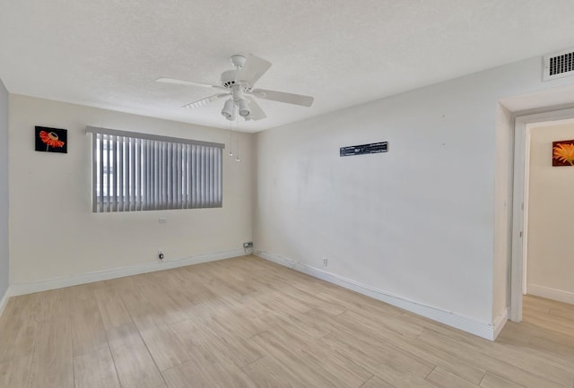
[[[2,388],[572,388],[574,308],[496,342],[253,256],[13,297]]]

